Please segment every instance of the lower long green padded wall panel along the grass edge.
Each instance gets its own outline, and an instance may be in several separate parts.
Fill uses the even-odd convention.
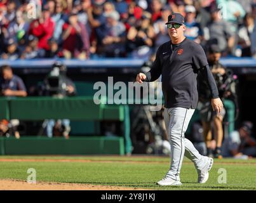
[[[2,141],[4,141],[5,155],[125,154],[124,139],[121,137],[90,136],[65,140],[65,138],[27,136],[19,140],[4,138]]]

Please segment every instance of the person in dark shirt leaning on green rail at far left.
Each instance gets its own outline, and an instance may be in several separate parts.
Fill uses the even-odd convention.
[[[13,70],[9,65],[3,65],[1,67],[0,88],[2,96],[27,96],[24,82],[20,77],[13,74]],[[20,122],[17,119],[10,121],[15,138],[20,138],[20,133],[17,130],[19,124]]]

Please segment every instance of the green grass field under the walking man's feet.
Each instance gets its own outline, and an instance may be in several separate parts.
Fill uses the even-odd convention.
[[[210,178],[198,184],[194,165],[184,159],[181,187],[156,185],[169,168],[168,157],[143,156],[0,156],[0,179],[27,180],[36,169],[37,181],[86,183],[152,190],[256,190],[256,159],[215,159]],[[223,169],[226,183],[218,183]],[[219,173],[218,173],[219,171]]]

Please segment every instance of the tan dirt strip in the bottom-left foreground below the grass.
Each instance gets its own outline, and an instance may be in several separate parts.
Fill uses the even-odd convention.
[[[142,188],[116,187],[109,185],[89,185],[76,183],[37,182],[20,180],[0,180],[0,190],[145,190]]]

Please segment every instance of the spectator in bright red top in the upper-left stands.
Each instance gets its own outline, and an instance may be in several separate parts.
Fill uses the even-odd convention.
[[[48,50],[48,39],[53,36],[54,29],[55,23],[51,20],[50,10],[44,7],[42,16],[30,24],[29,34],[38,38],[39,48]]]

